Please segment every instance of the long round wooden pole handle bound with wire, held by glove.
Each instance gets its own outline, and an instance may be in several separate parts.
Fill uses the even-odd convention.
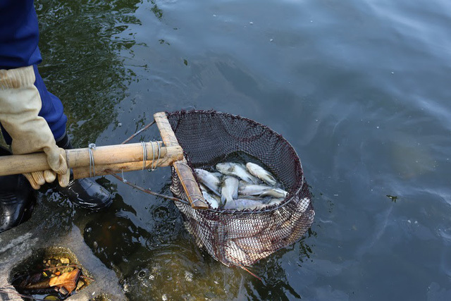
[[[158,161],[158,166],[165,166],[163,164],[166,163],[170,165],[171,163],[169,162],[183,159],[182,147],[158,147],[157,144],[161,145],[161,143],[161,141],[144,143],[147,153],[147,166],[149,166],[154,157],[155,164]],[[153,149],[152,145],[154,146]],[[134,164],[130,165],[128,171],[142,169],[144,149],[141,143],[96,147],[96,149],[91,149],[91,152],[94,159],[96,176],[101,175],[100,172],[97,173],[97,170],[101,170],[100,166],[109,166],[112,170],[117,170],[117,168],[125,168],[127,164],[134,162]],[[91,160],[89,157],[88,148],[67,149],[66,151],[63,150],[62,154],[66,157],[68,168],[74,168],[74,170],[77,171],[79,175],[78,178],[89,177],[89,166],[91,165]],[[116,166],[116,164],[120,165]],[[19,173],[32,173],[34,171],[46,171],[48,169],[50,169],[50,167],[47,163],[47,156],[44,153],[0,156],[0,176],[15,175]],[[87,173],[82,173],[83,169]]]

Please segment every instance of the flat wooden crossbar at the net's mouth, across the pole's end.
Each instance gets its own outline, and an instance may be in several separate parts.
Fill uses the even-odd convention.
[[[177,137],[175,137],[171,124],[169,124],[168,118],[166,117],[166,113],[154,113],[154,119],[160,130],[161,139],[163,140],[164,145],[166,145],[166,147],[179,146]],[[199,185],[197,185],[197,181],[192,174],[190,166],[187,165],[186,159],[183,158],[180,161],[175,161],[173,166],[178,178],[180,178],[180,183],[182,183],[183,190],[185,190],[191,207],[194,209],[207,209],[209,206],[202,196]]]

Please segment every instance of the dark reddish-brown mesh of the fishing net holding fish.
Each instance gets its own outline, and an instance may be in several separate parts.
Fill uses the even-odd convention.
[[[246,156],[258,160],[288,191],[280,204],[253,210],[199,210],[175,202],[197,245],[214,259],[227,266],[249,266],[308,231],[315,215],[311,194],[299,157],[282,136],[250,119],[216,111],[168,113],[168,121],[192,168],[208,169]],[[171,191],[187,200],[174,168]]]

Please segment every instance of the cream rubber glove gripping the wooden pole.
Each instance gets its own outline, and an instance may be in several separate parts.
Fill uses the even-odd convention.
[[[47,154],[51,171],[24,174],[32,188],[39,189],[45,182],[53,182],[55,173],[58,173],[59,184],[66,187],[69,168],[47,121],[38,116],[42,101],[35,80],[32,66],[0,70],[0,122],[13,138],[13,154]]]

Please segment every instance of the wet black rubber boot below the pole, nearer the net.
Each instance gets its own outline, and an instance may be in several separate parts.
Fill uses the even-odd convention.
[[[58,140],[56,145],[62,149],[73,149],[67,134],[63,139]],[[112,202],[111,194],[108,190],[87,178],[70,180],[69,185],[65,188],[58,185],[58,191],[66,195],[73,204],[91,210],[109,207]]]

